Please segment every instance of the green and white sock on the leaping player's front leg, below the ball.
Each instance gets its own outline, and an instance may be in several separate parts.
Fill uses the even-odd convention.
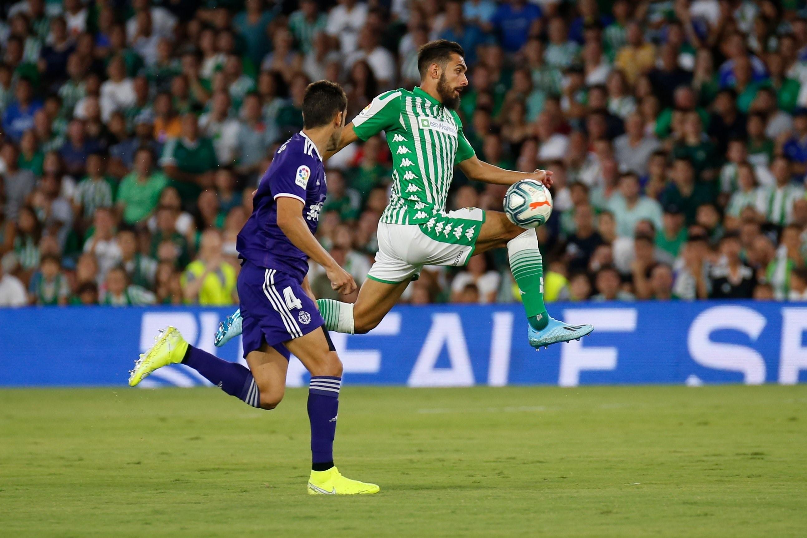
[[[507,244],[512,277],[521,292],[527,321],[537,331],[550,323],[544,306],[544,265],[534,230],[526,230]]]

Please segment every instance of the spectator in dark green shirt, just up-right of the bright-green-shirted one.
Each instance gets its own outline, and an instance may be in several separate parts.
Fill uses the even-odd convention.
[[[219,163],[213,143],[199,136],[199,123],[194,114],[182,116],[180,136],[165,144],[160,165],[185,205],[193,204],[203,187],[212,186],[213,171]]]

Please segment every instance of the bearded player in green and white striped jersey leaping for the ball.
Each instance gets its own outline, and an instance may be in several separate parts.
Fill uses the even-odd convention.
[[[514,172],[480,161],[457,115],[468,85],[462,47],[437,40],[418,52],[420,86],[378,95],[342,131],[338,152],[383,131],[393,160],[390,202],[378,223],[378,254],[355,303],[320,299],[325,327],[365,333],[398,302],[424,265],[466,265],[470,256],[506,247],[521,291],[533,348],[579,339],[591,325],[568,325],[546,312],[543,266],[535,230],[517,227],[503,212],[466,207],[445,211],[454,166],[466,177],[512,185],[522,179],[552,184],[552,173]],[[326,158],[330,156],[326,154]],[[216,345],[240,332],[237,313],[222,323]]]

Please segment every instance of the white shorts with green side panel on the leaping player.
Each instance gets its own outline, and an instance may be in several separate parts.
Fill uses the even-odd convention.
[[[367,277],[399,284],[419,275],[424,265],[466,265],[484,222],[485,211],[465,207],[428,223],[378,223],[378,253]]]

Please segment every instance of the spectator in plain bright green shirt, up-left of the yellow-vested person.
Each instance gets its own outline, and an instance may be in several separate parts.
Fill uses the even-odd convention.
[[[151,149],[138,149],[134,169],[123,177],[118,190],[117,206],[123,222],[135,224],[147,219],[160,202],[160,194],[167,185],[165,174],[154,169]]]

